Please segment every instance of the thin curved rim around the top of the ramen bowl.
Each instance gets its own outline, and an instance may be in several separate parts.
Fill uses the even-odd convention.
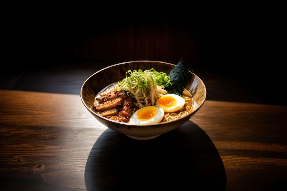
[[[163,63],[163,64],[169,64],[169,65],[172,65],[172,66],[175,66],[175,64],[171,64],[171,63],[168,63],[168,62],[162,62],[162,61],[155,61],[155,60],[135,60],[135,61],[129,61],[129,62],[121,62],[121,63],[118,63],[118,64],[113,64],[111,66],[108,66],[106,68],[103,68],[101,70],[98,70],[97,72],[95,72],[94,74],[92,74],[90,77],[87,78],[87,80],[83,83],[82,87],[81,87],[81,91],[80,91],[80,97],[81,97],[81,100],[82,100],[82,103],[84,104],[84,106],[88,109],[88,111],[90,111],[92,114],[96,115],[97,117],[100,117],[106,121],[110,121],[112,123],[115,123],[115,124],[121,124],[121,125],[127,125],[127,126],[151,126],[151,125],[162,125],[162,124],[166,124],[166,123],[172,123],[174,121],[179,121],[179,120],[174,120],[174,121],[170,121],[170,122],[160,122],[160,123],[153,123],[153,124],[146,124],[146,125],[134,125],[134,124],[129,124],[129,123],[124,123],[124,122],[119,122],[119,121],[114,121],[114,120],[111,120],[111,119],[107,119],[105,117],[102,117],[101,115],[99,115],[98,113],[96,113],[95,111],[93,111],[91,108],[89,108],[86,103],[84,102],[83,100],[83,97],[82,97],[82,90],[83,90],[83,87],[84,85],[86,84],[86,82],[92,77],[94,76],[95,74],[97,74],[98,72],[102,71],[102,70],[106,70],[108,68],[111,68],[113,66],[117,66],[117,65],[121,65],[121,64],[127,64],[127,63],[133,63],[133,62],[160,62],[160,63]],[[203,102],[198,105],[198,107],[192,111],[192,112],[189,112],[185,117],[183,117],[182,119],[186,118],[186,117],[189,117],[190,115],[192,115],[193,113],[195,113],[197,110],[199,110],[201,108],[201,106],[204,104],[205,100],[206,100],[206,95],[207,95],[207,91],[206,91],[206,86],[205,84],[203,83],[203,81],[194,73],[192,73],[193,75],[195,75],[203,84],[204,86],[204,89],[205,89],[205,98],[203,100]]]

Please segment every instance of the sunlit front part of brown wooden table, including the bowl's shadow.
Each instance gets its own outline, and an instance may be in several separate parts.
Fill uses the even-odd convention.
[[[1,190],[286,186],[285,106],[207,100],[181,127],[137,141],[99,123],[79,95],[0,94]]]

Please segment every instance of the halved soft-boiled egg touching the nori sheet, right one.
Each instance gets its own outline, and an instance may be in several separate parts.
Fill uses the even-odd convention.
[[[184,104],[185,99],[175,94],[163,95],[156,101],[156,105],[161,107],[166,113],[179,111]]]

